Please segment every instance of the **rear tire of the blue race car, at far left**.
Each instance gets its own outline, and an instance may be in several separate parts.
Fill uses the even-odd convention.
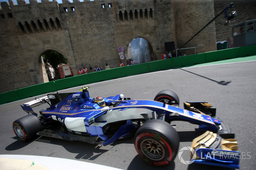
[[[35,115],[27,115],[12,123],[15,135],[21,141],[29,141],[43,130],[41,121]]]

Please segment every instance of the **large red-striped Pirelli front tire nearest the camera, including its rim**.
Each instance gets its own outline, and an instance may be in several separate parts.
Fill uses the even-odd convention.
[[[169,123],[153,119],[138,129],[134,146],[140,157],[149,164],[166,165],[177,155],[179,136]]]

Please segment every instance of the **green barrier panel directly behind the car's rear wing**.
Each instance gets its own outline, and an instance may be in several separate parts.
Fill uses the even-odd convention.
[[[42,83],[38,85],[32,85],[29,87],[24,87],[16,90],[20,99],[26,99],[33,96],[38,96],[44,93],[54,92],[56,91],[56,86],[54,81],[50,81],[47,83]]]

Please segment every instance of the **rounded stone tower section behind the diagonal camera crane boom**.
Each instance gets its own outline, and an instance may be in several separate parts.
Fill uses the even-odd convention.
[[[177,47],[184,45],[193,35],[214,18],[213,0],[177,0],[174,1],[175,32]],[[182,48],[196,47],[197,53],[216,50],[215,24],[212,22],[194,39]]]

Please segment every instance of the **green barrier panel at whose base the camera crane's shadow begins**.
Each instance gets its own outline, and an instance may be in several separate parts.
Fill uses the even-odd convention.
[[[172,68],[205,63],[205,53],[186,55],[172,58]]]

